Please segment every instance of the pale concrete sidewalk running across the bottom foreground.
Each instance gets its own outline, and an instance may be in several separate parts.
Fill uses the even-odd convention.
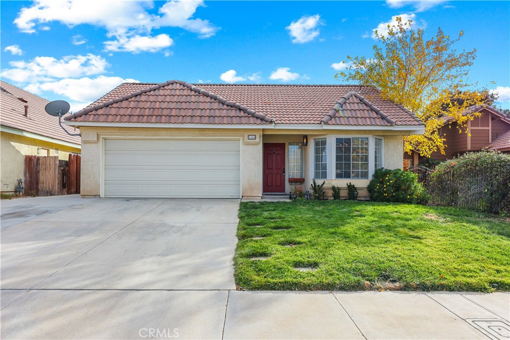
[[[19,293],[2,290],[2,299]],[[2,310],[4,339],[510,337],[509,293],[31,290],[21,294]]]

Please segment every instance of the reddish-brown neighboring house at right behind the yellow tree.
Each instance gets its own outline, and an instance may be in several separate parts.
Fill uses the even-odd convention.
[[[441,130],[446,138],[445,154],[439,151],[433,152],[431,159],[450,160],[456,155],[480,151],[484,148],[510,152],[510,118],[490,106],[473,107],[469,112],[481,112],[481,116],[467,121],[468,133],[459,133],[456,123],[445,124]],[[404,168],[418,165],[425,159],[416,151],[413,151],[411,155],[404,153]]]

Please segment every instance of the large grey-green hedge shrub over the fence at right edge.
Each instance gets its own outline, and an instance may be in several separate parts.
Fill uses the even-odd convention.
[[[441,163],[430,175],[433,202],[510,214],[510,155],[469,152]]]

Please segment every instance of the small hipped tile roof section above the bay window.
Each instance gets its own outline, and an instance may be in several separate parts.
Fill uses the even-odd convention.
[[[335,125],[385,125],[395,121],[375,107],[361,94],[351,91],[335,104],[329,114],[322,118],[323,124]]]

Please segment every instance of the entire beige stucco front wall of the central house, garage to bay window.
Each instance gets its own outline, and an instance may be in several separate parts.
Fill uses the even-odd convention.
[[[241,182],[242,197],[258,199],[262,195],[263,179],[263,143],[286,143],[286,169],[288,169],[288,143],[302,142],[307,135],[309,145],[303,147],[303,189],[310,190],[313,178],[313,138],[327,135],[370,135],[384,138],[384,167],[401,169],[403,162],[402,135],[407,132],[384,130],[291,130],[291,129],[198,129],[198,128],[118,128],[118,127],[81,127],[82,133],[82,178],[81,194],[84,197],[101,195],[101,168],[103,167],[102,143],[104,138],[221,138],[234,137],[243,140],[241,143]],[[257,135],[259,140],[249,142],[247,134]],[[288,177],[288,172],[286,173]],[[326,196],[331,196],[331,185],[343,188],[342,196],[347,197],[347,182],[352,182],[359,189],[359,198],[368,199],[366,187],[369,179],[327,179]],[[322,182],[322,181],[320,181]],[[286,179],[286,192],[291,186]]]

